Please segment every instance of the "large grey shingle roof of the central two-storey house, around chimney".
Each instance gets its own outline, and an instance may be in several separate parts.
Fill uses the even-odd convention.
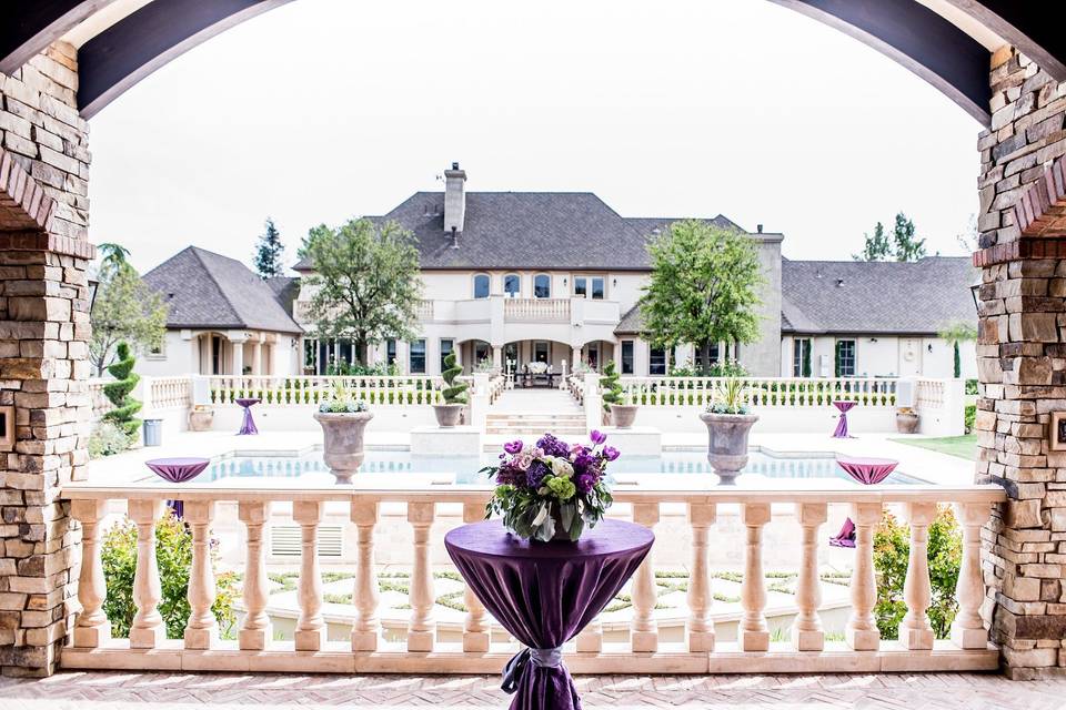
[[[419,241],[422,268],[646,270],[652,230],[674,220],[622,217],[590,192],[467,192],[466,216],[452,248],[444,234],[444,193],[418,192],[392,212]],[[715,224],[736,226],[718,215]],[[310,271],[301,261],[296,271]]]

